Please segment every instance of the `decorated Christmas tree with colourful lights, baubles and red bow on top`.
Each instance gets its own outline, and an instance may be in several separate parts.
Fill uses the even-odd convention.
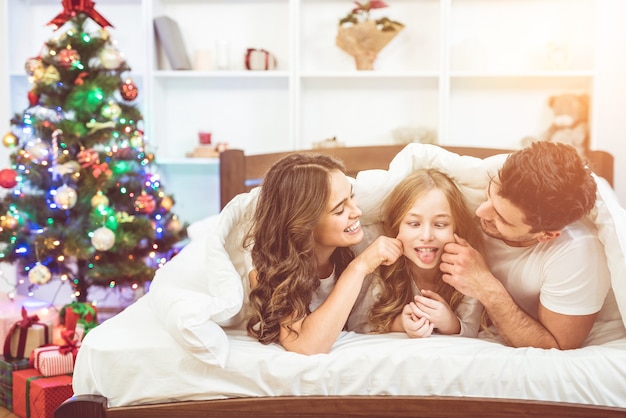
[[[86,301],[90,286],[151,280],[186,228],[152,168],[112,25],[89,0],[63,6],[56,36],[25,64],[29,107],[3,138],[14,150],[0,170],[0,261],[31,286],[68,280]]]

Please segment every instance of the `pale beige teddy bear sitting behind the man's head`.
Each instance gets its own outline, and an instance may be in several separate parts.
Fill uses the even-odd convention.
[[[589,96],[573,93],[551,96],[548,106],[553,113],[552,124],[539,140],[572,145],[585,156],[589,149]]]

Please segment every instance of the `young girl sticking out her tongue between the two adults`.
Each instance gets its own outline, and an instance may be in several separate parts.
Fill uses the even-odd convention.
[[[477,336],[482,306],[445,283],[439,270],[443,247],[454,242],[455,234],[475,248],[482,242],[478,224],[454,181],[434,169],[413,172],[385,200],[382,226],[384,235],[402,242],[404,257],[379,268],[379,276],[353,314],[351,323],[357,323],[353,328],[401,331],[412,338],[428,337],[435,330]]]

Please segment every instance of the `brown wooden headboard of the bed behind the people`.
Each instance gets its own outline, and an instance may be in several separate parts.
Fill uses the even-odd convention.
[[[220,153],[220,209],[240,193],[250,191],[261,183],[267,170],[280,158],[295,152],[313,152],[333,155],[343,161],[351,176],[363,170],[388,169],[389,163],[405,145],[380,145],[364,147],[316,148],[270,154],[246,155],[244,151],[230,149]],[[442,146],[459,155],[486,158],[511,152],[498,148],[473,148]],[[613,185],[613,156],[606,151],[590,151],[589,163],[601,177]]]

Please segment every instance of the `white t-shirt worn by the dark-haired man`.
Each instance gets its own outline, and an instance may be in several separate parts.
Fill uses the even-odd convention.
[[[531,247],[487,237],[485,259],[515,302],[537,318],[539,302],[564,315],[598,312],[611,288],[608,262],[595,226],[575,222],[561,235]]]

